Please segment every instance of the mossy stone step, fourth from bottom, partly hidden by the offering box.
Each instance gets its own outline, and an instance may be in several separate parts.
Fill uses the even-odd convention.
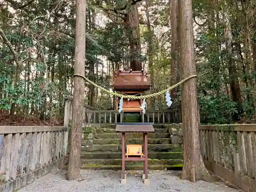
[[[122,145],[86,145],[82,146],[82,151],[86,152],[121,152]],[[182,152],[180,144],[148,144],[148,152]]]

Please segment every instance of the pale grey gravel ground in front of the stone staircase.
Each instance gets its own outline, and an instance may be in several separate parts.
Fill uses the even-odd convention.
[[[191,183],[180,180],[175,171],[153,171],[150,170],[148,176],[150,185],[145,186],[141,179],[142,172],[127,172],[126,185],[120,184],[121,172],[114,170],[81,170],[84,178],[82,181],[67,181],[66,172],[57,170],[48,174],[34,183],[19,190],[19,192],[239,192],[240,190],[225,186],[222,182],[207,183],[198,181]]]

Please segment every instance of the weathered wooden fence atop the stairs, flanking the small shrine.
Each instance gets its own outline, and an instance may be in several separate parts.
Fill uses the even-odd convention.
[[[171,109],[173,108],[173,109]],[[142,122],[151,123],[180,123],[181,122],[181,105],[180,103],[171,106],[168,110],[146,110],[144,115],[141,115]],[[103,123],[119,123],[122,122],[122,113],[118,110],[97,111],[89,105],[84,105],[83,108],[83,123],[84,124],[103,124]],[[65,119],[69,122],[72,120],[72,102],[68,97],[65,103]]]

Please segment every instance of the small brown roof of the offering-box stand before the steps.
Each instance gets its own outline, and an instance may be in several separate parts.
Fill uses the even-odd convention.
[[[154,132],[153,123],[116,123],[116,132]]]

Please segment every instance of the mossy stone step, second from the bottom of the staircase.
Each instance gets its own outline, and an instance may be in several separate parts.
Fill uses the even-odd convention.
[[[125,161],[125,165],[140,165],[143,161]],[[181,159],[148,159],[148,165],[181,165]],[[81,159],[81,165],[121,165],[122,159]]]

